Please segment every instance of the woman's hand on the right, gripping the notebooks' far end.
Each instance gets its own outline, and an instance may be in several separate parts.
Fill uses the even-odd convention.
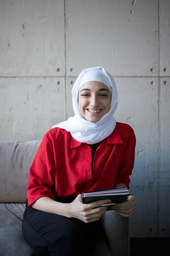
[[[136,201],[134,196],[128,196],[126,202],[115,204],[112,207],[113,210],[117,211],[119,215],[123,217],[131,216],[136,209]]]

